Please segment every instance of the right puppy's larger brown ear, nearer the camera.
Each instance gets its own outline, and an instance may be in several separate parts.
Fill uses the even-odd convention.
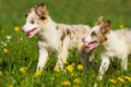
[[[108,21],[106,21],[106,22],[100,26],[100,33],[102,33],[102,34],[107,34],[107,33],[109,33],[110,27],[111,27],[111,23],[110,23],[110,21],[108,20]]]

